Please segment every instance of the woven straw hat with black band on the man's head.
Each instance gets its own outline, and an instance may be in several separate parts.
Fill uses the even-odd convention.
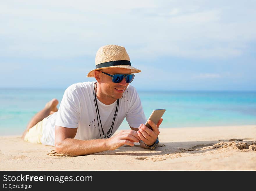
[[[99,48],[95,57],[95,68],[87,74],[87,77],[94,77],[95,70],[106,68],[126,68],[131,69],[131,73],[141,72],[141,70],[131,66],[130,57],[125,47],[113,44]]]

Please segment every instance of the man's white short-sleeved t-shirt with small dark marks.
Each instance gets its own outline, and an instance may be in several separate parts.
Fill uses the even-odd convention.
[[[95,82],[76,83],[69,86],[63,95],[58,112],[47,117],[43,127],[41,143],[54,146],[55,125],[77,128],[75,139],[89,140],[103,138],[101,125],[97,123],[93,88]],[[106,105],[97,99],[100,119],[104,133],[111,127],[117,101]],[[137,128],[145,124],[146,117],[136,89],[128,85],[122,98],[119,99],[118,113],[111,135],[118,129],[126,117],[129,126]]]

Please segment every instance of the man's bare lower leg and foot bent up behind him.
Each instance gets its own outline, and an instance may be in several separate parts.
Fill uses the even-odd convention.
[[[51,101],[49,101],[48,103],[46,103],[45,108],[43,108],[41,111],[39,111],[37,114],[35,114],[35,116],[31,119],[31,121],[29,122],[29,124],[26,127],[26,130],[24,131],[24,133],[22,135],[22,139],[24,139],[26,133],[28,132],[28,130],[31,127],[33,127],[38,122],[42,121],[45,117],[58,111],[58,109],[57,109],[58,103],[59,103],[58,100],[55,98],[52,99]]]

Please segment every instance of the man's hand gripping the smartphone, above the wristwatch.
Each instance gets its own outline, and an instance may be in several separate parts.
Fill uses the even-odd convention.
[[[162,123],[163,118],[159,120],[157,124],[154,124],[151,120],[148,121],[148,124],[152,127],[152,130],[145,126],[145,124],[141,124],[139,126],[139,130],[137,131],[139,138],[143,140],[143,142],[147,145],[152,145],[157,140],[157,137],[160,133],[159,126]]]

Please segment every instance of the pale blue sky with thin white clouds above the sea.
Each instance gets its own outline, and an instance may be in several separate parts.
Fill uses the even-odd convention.
[[[256,91],[256,1],[0,1],[0,88],[65,89],[125,47],[137,90]]]

